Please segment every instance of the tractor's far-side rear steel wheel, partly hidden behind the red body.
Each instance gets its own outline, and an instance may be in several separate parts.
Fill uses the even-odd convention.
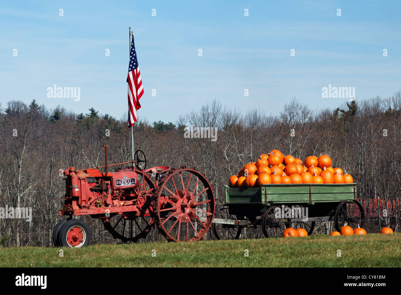
[[[128,169],[132,171],[132,169]],[[144,185],[142,171],[135,170],[138,174],[138,186],[135,191],[138,197],[138,204],[142,208],[140,215],[135,216],[132,212],[127,212],[122,216],[110,221],[111,218],[103,220],[103,226],[115,239],[120,239],[123,242],[136,242],[141,238],[146,238],[146,235],[154,228],[154,221],[150,217],[152,212],[152,201],[150,193],[154,192],[155,185],[149,175],[145,174],[146,185]],[[148,194],[140,193],[146,191]],[[113,216],[111,216],[113,217]]]

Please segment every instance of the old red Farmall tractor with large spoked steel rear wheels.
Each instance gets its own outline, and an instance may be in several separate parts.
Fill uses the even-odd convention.
[[[213,187],[195,168],[146,168],[146,157],[136,151],[134,161],[63,171],[66,193],[61,220],[53,230],[55,246],[83,247],[91,232],[85,222],[73,216],[99,218],[113,238],[136,242],[157,227],[168,241],[200,240],[209,230],[215,214]],[[131,164],[121,168],[121,165]],[[117,166],[115,172],[108,168]],[[99,168],[105,168],[100,172]]]

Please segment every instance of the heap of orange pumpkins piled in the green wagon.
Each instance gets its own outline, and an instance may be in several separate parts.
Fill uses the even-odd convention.
[[[259,156],[256,162],[245,164],[229,179],[231,187],[260,187],[263,184],[290,183],[353,183],[352,176],[341,168],[332,168],[328,155],[302,160],[284,155],[278,150]]]

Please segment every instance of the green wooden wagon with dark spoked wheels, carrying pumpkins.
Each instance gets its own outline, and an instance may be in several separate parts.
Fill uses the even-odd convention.
[[[328,221],[338,231],[344,224],[363,228],[365,212],[356,200],[356,183],[225,185],[225,203],[213,219],[213,232],[218,239],[239,238],[244,228],[253,228],[274,237],[291,227],[310,235],[316,222]]]

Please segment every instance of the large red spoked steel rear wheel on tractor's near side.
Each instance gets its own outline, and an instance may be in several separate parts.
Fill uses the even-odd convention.
[[[168,241],[200,240],[215,214],[213,188],[194,168],[172,169],[156,190],[153,212],[160,234]]]

